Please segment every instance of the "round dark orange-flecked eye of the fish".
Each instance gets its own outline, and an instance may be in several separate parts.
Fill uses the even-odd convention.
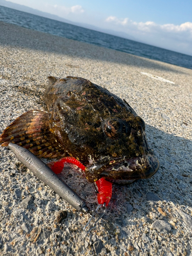
[[[111,139],[116,139],[118,137],[120,126],[119,121],[116,119],[107,120],[104,123],[103,130],[106,136]]]

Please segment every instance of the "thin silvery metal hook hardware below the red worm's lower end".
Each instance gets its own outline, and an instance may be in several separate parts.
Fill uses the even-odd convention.
[[[103,209],[104,209],[104,211],[102,213],[98,211],[100,207],[103,207]],[[95,210],[92,210],[90,212],[91,218],[89,219],[88,223],[83,227],[83,231],[85,231],[86,233],[89,233],[92,229],[94,229],[97,225],[97,222],[105,215],[105,212],[106,212],[105,203],[99,204],[99,206],[97,206],[97,208]],[[93,224],[91,224],[91,221],[93,222]],[[89,225],[91,225],[91,227],[89,228],[88,231],[86,231],[86,228]]]

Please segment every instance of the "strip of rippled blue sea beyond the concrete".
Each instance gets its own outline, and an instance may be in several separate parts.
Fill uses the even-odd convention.
[[[0,6],[0,20],[89,44],[192,69],[192,56]],[[1,32],[1,28],[0,28]]]

